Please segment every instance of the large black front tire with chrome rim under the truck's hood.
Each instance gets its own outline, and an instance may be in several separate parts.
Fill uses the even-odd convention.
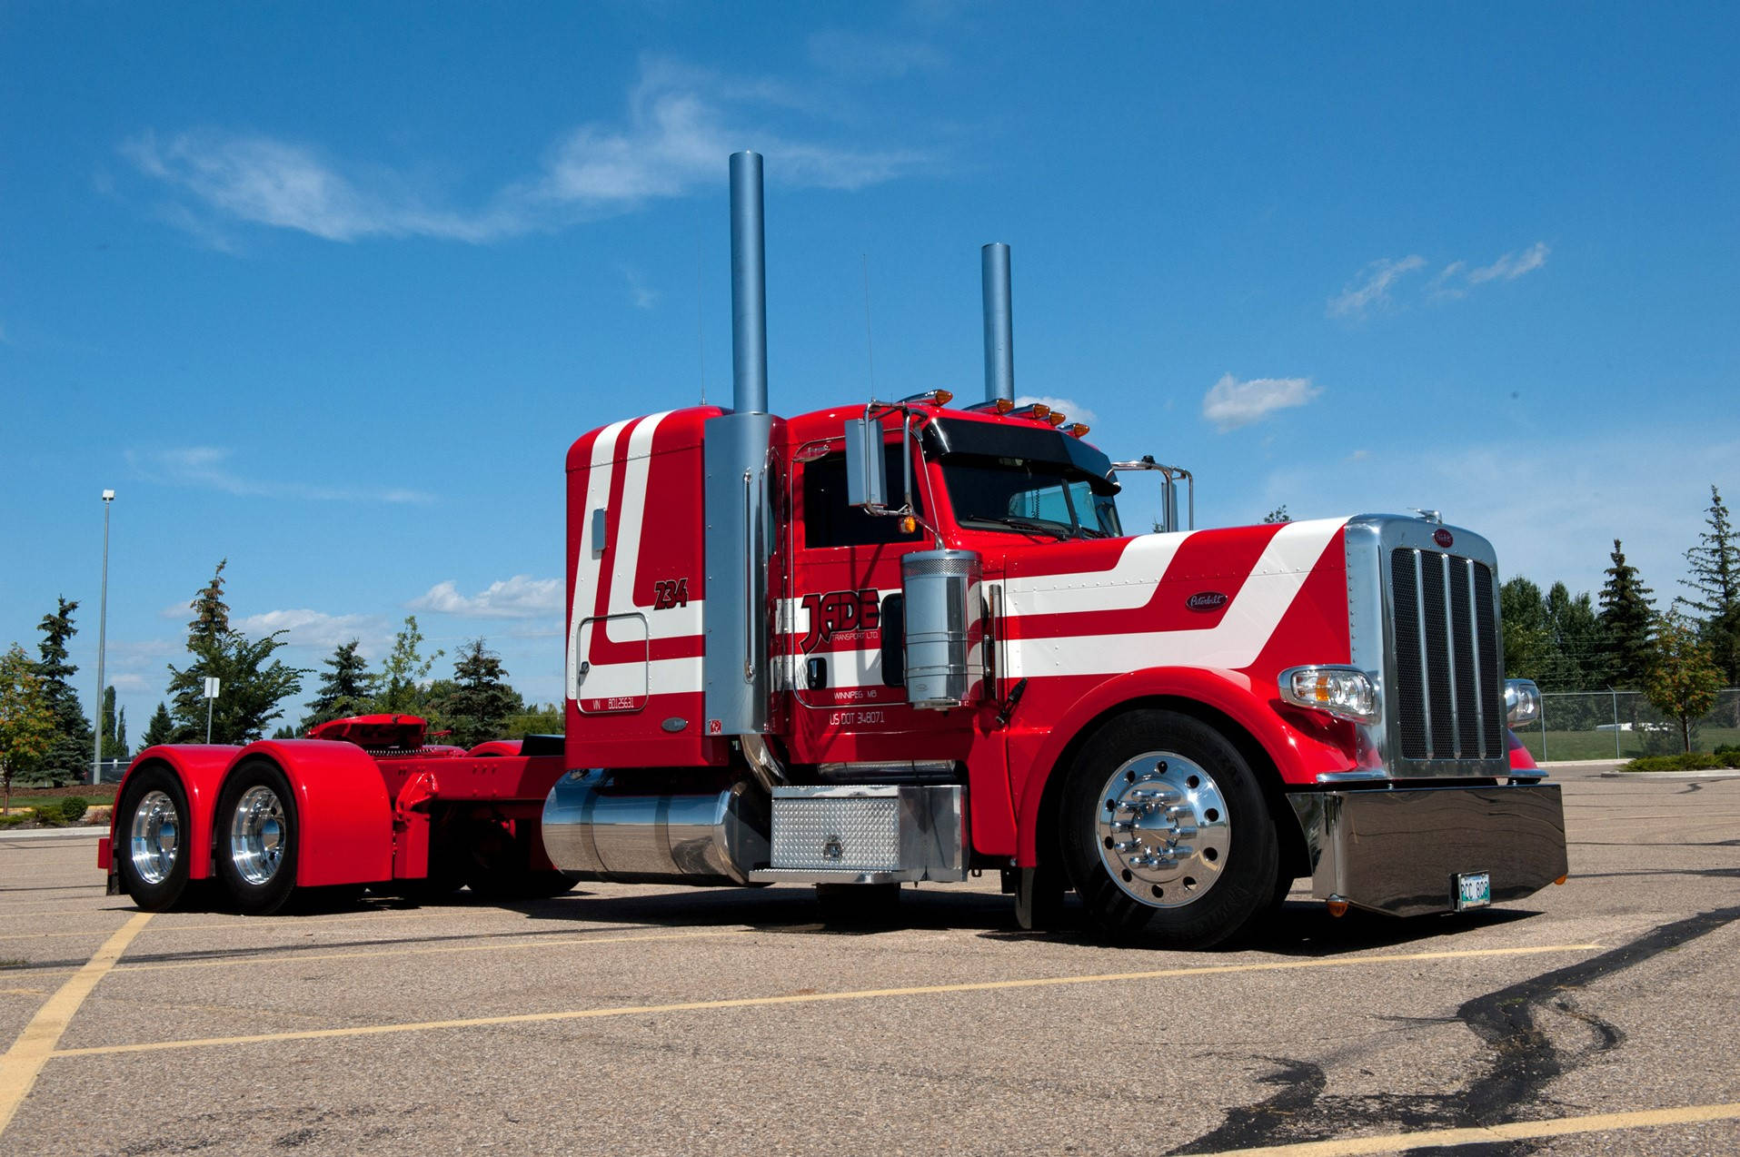
[[[1081,748],[1063,788],[1063,861],[1091,924],[1114,940],[1209,948],[1272,901],[1274,816],[1215,727],[1129,712]]]

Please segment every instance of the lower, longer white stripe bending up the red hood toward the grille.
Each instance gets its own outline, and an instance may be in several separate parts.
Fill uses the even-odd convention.
[[[1319,518],[1281,527],[1213,628],[1011,639],[1009,679],[1117,675],[1145,666],[1249,666],[1343,524],[1345,518]],[[1020,614],[1047,614],[1047,604],[1049,597],[1030,593]]]

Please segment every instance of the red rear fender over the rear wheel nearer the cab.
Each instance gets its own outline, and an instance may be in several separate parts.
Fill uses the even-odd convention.
[[[334,739],[261,739],[233,762],[275,762],[296,793],[298,887],[393,879],[393,804],[374,759]]]

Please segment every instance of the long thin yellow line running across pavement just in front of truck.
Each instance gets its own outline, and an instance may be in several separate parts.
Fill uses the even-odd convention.
[[[776,1004],[825,1004],[832,1000],[877,1000],[887,997],[934,997],[960,992],[1007,992],[1011,988],[1058,988],[1063,985],[1105,985],[1112,981],[1166,980],[1174,976],[1223,976],[1228,973],[1289,973],[1300,969],[1357,967],[1362,964],[1408,964],[1418,960],[1474,960],[1482,957],[1522,957],[1556,952],[1592,952],[1601,945],[1545,945],[1533,948],[1470,948],[1463,952],[1408,952],[1382,957],[1338,957],[1333,960],[1272,960],[1263,964],[1215,964],[1206,967],[1171,967],[1147,973],[1098,973],[1093,976],[1035,976],[1030,980],[987,980],[959,985],[922,985],[915,988],[854,988],[849,992],[813,992],[781,997],[736,997],[731,1000],[682,1000],[677,1004],[635,1004],[604,1009],[562,1009],[555,1013],[515,1013],[510,1016],[468,1016],[461,1020],[405,1021],[397,1025],[353,1025],[348,1028],[304,1028],[299,1032],[261,1032],[244,1037],[200,1037],[193,1040],[146,1040],[141,1044],[101,1044],[84,1049],[59,1049],[56,1056],[111,1056],[117,1053],[162,1053],[167,1049],[204,1049],[224,1044],[266,1044],[277,1040],[327,1040],[339,1037],[379,1037],[433,1028],[485,1028],[492,1025],[543,1025],[550,1021],[599,1020],[606,1016],[647,1016],[656,1013],[698,1013],[713,1009],[753,1009]]]

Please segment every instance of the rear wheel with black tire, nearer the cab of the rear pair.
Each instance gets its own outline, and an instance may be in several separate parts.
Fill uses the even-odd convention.
[[[218,795],[218,879],[247,915],[271,915],[296,891],[301,823],[291,781],[275,764],[237,767]]]

